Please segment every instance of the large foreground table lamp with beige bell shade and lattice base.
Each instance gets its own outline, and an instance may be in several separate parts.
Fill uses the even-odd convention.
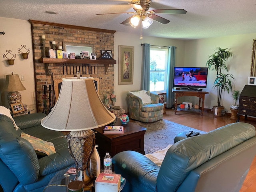
[[[92,77],[62,78],[58,100],[41,124],[50,130],[70,131],[66,135],[68,148],[76,168],[82,172],[84,188],[92,184],[88,168],[95,146],[92,129],[110,124],[115,119],[116,116],[100,100]]]

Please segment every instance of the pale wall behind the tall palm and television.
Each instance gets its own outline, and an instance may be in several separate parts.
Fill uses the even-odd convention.
[[[214,53],[217,47],[229,47],[233,53],[233,58],[228,60],[227,66],[229,73],[234,76],[234,80],[232,80],[233,89],[242,91],[244,85],[247,84],[248,76],[250,76],[252,41],[254,38],[256,38],[256,34],[242,34],[186,41],[184,65],[205,66],[208,57]],[[209,94],[206,94],[204,107],[212,108],[212,106],[217,105],[217,90],[212,89],[216,73],[209,70],[208,74],[208,84],[204,90],[208,91]],[[192,99],[190,102],[198,102],[197,100],[193,102]],[[230,112],[230,105],[233,103],[231,94],[224,92],[221,104],[228,112]]]

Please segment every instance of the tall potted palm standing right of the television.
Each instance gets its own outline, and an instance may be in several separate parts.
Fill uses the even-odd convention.
[[[221,110],[224,107],[220,104],[222,94],[224,91],[228,93],[232,90],[232,84],[230,79],[234,79],[232,74],[224,74],[228,72],[226,61],[232,57],[232,53],[229,51],[230,48],[221,49],[218,47],[216,52],[209,56],[209,60],[206,62],[208,68],[216,71],[216,79],[214,80],[213,89],[217,89],[217,106],[213,106],[213,112],[216,116],[221,116]]]

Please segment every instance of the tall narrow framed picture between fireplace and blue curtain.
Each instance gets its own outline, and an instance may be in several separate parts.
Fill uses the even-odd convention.
[[[134,46],[119,45],[118,85],[133,84]]]

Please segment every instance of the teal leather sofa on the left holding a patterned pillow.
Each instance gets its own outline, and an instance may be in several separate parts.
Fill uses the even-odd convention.
[[[14,117],[20,128],[15,130],[10,118],[0,115],[0,191],[42,192],[58,171],[75,166],[64,135],[41,126],[45,116],[36,113]],[[56,153],[40,158],[20,137],[22,132],[52,142]]]

